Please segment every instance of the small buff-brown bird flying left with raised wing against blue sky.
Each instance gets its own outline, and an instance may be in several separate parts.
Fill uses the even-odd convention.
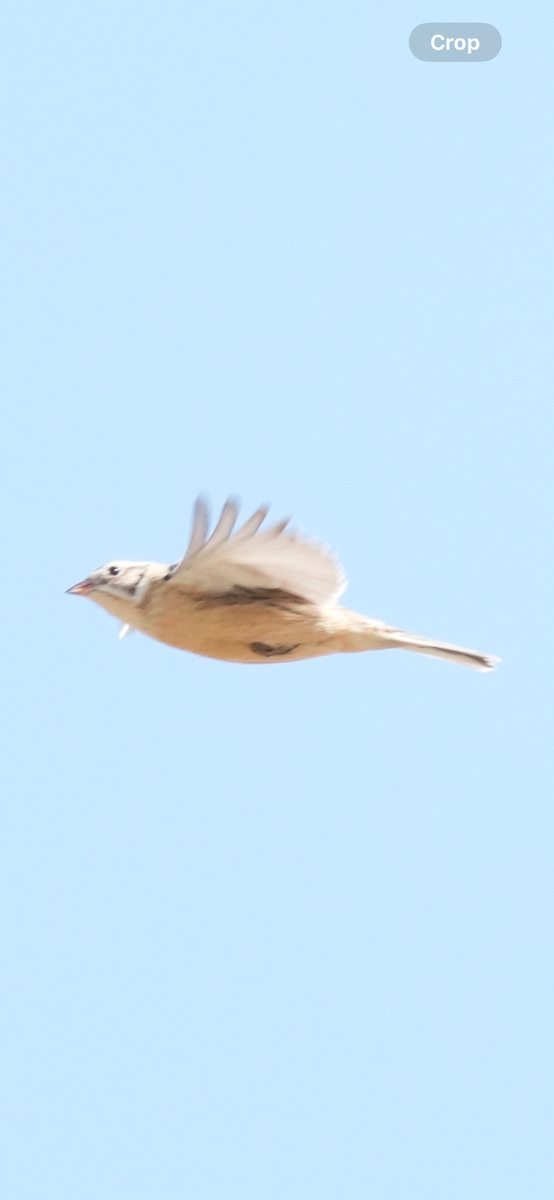
[[[404,649],[492,671],[499,659],[435,642],[361,617],[338,604],[347,587],[330,551],[281,521],[261,529],[259,508],[235,529],[229,499],[209,535],[204,499],[194,505],[191,540],[179,563],[107,563],[70,588],[130,630],[228,662],[293,662],[354,650]]]

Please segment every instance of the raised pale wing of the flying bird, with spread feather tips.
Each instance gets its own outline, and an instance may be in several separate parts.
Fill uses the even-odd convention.
[[[205,500],[197,500],[188,548],[173,569],[171,584],[209,595],[277,589],[323,606],[338,600],[347,583],[329,550],[289,532],[288,521],[259,533],[265,506],[233,533],[237,512],[235,500],[228,500],[207,538],[207,508]]]

